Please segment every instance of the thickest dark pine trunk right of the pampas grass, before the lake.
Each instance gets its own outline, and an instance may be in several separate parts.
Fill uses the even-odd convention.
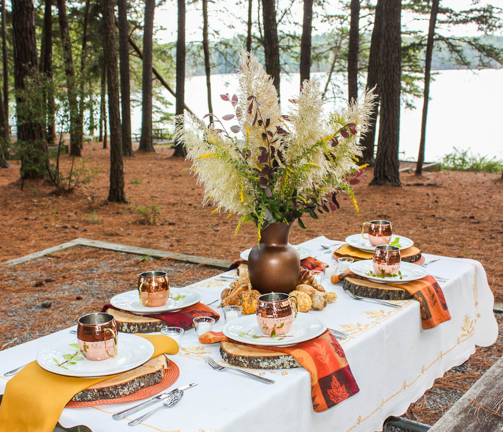
[[[380,0],[381,2],[383,0]],[[371,185],[401,186],[398,162],[400,135],[401,32],[400,0],[384,0],[383,36],[379,48],[381,118],[374,178]]]

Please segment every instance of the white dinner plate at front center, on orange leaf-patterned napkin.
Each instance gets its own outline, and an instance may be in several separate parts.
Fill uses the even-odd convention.
[[[265,345],[268,347],[284,347],[294,343],[305,342],[319,336],[326,330],[323,320],[309,313],[299,312],[293,321],[292,327],[286,334],[288,337],[263,336],[257,322],[257,315],[242,315],[223,326],[222,332],[230,339],[250,345]],[[261,337],[254,337],[261,336]]]

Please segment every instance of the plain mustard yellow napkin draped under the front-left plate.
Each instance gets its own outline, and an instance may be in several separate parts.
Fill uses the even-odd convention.
[[[178,353],[178,343],[171,337],[158,334],[138,336],[154,345],[151,358],[162,353]],[[109,378],[65,377],[42,369],[36,361],[31,362],[7,383],[0,405],[0,430],[52,432],[64,406],[73,396]]]

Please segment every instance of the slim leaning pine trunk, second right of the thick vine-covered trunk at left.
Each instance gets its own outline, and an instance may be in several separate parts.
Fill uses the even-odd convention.
[[[78,116],[77,87],[75,82],[75,69],[71,55],[71,41],[68,29],[68,16],[66,15],[65,0],[56,0],[59,16],[59,29],[63,45],[63,61],[68,87],[68,108],[70,110],[70,156],[80,156],[82,146],[82,128]]]

